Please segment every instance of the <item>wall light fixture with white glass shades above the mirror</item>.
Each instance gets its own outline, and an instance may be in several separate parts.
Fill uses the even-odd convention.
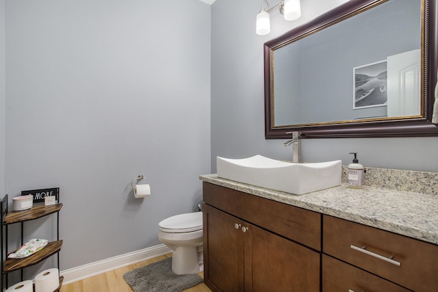
[[[265,10],[267,8],[267,10]],[[294,21],[301,16],[301,4],[300,0],[281,0],[280,3],[270,8],[269,2],[266,0],[261,1],[261,9],[257,14],[255,33],[259,36],[269,34],[271,31],[270,16],[269,13],[272,10],[279,8],[281,14],[286,21]]]

